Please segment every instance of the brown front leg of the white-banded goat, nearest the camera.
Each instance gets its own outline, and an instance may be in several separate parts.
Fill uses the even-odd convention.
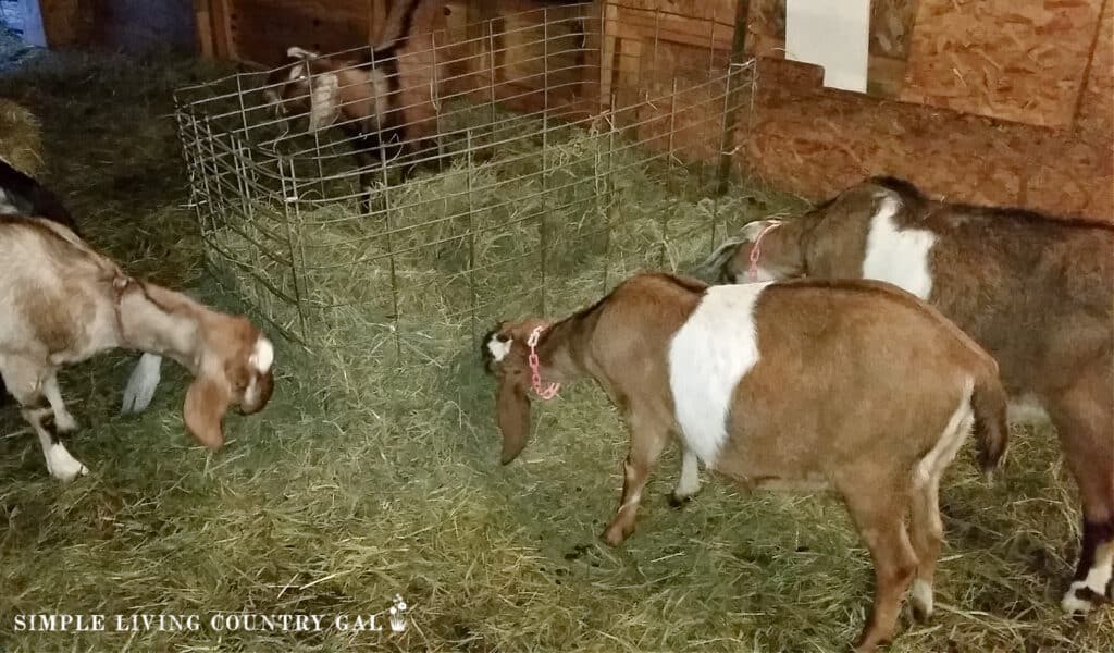
[[[634,533],[642,490],[646,487],[649,470],[670,439],[668,422],[655,419],[648,410],[632,409],[627,423],[631,427],[631,451],[623,464],[623,498],[615,518],[604,532],[604,540],[612,546],[618,546]]]

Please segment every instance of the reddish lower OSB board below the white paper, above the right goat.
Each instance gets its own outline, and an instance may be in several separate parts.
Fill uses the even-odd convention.
[[[1108,146],[1058,129],[824,89],[818,67],[763,60],[747,165],[812,198],[863,177],[934,195],[1114,222]]]

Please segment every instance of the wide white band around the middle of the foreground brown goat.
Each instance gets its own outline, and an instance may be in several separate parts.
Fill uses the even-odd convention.
[[[769,283],[716,285],[670,342],[670,390],[685,446],[715,464],[735,388],[759,361],[754,303]]]

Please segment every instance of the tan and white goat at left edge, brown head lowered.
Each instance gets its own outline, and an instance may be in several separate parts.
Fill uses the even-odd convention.
[[[87,471],[59,439],[77,427],[58,388],[63,366],[116,348],[178,361],[195,377],[186,428],[214,449],[229,407],[246,415],[271,399],[274,348],[251,322],[127,275],[48,220],[0,217],[0,374],[61,480]]]

